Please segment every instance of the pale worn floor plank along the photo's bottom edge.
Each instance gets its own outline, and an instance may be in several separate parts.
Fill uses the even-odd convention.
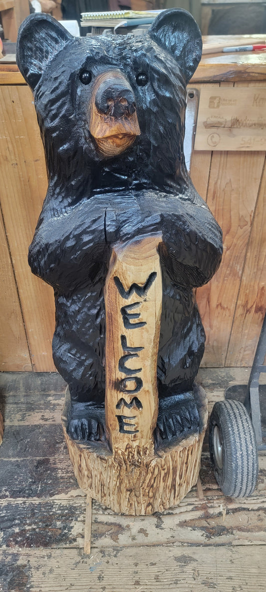
[[[11,574],[20,573],[23,585],[34,592],[264,592],[265,547],[219,549],[193,546],[92,549],[22,549],[1,551]],[[19,571],[18,571],[19,570]],[[19,588],[18,588],[19,590]],[[21,588],[22,590],[22,588]]]

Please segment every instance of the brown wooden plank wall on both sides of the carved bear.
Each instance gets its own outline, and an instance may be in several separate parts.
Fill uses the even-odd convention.
[[[0,369],[53,371],[53,290],[27,263],[47,188],[30,89],[1,85],[0,113]],[[197,290],[207,337],[202,365],[250,366],[266,307],[265,153],[194,152],[191,175],[222,226],[225,246],[218,273]]]

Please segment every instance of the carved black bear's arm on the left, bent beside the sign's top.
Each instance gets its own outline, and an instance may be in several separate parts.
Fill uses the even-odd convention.
[[[87,200],[56,216],[44,208],[28,253],[33,274],[61,289],[95,281],[109,261],[106,207]]]

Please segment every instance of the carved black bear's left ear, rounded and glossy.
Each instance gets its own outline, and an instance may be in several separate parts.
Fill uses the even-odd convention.
[[[25,18],[18,30],[17,65],[34,91],[48,63],[73,40],[55,18],[42,12]]]

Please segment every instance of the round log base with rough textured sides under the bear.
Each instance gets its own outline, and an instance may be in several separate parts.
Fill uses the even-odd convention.
[[[87,496],[116,513],[153,514],[177,506],[196,485],[207,425],[207,398],[199,387],[202,430],[181,443],[144,455],[128,443],[125,451],[111,453],[102,442],[72,440],[66,432],[69,390],[62,416],[64,436],[74,474]]]

